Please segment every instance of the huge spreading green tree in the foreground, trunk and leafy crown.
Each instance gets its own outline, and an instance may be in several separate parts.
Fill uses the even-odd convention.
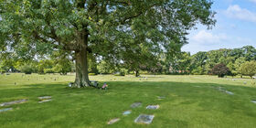
[[[76,61],[74,87],[90,86],[88,58],[122,60],[139,31],[155,53],[187,43],[187,31],[215,23],[210,0],[1,0],[0,48],[23,59],[69,53]],[[144,25],[144,26],[142,26]],[[150,28],[150,30],[148,29]],[[125,44],[125,45],[124,45]],[[137,44],[139,45],[139,44]],[[126,46],[126,47],[121,47]],[[121,50],[123,49],[123,50]]]

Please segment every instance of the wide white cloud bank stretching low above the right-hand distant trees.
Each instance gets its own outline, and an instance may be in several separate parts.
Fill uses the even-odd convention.
[[[253,37],[237,37],[226,33],[215,34],[206,29],[202,29],[190,35],[188,44],[182,50],[196,54],[198,51],[208,51],[219,48],[242,48],[244,46],[256,47]]]

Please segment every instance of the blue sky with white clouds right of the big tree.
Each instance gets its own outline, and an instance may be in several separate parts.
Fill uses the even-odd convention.
[[[256,48],[256,0],[214,0],[216,26],[208,30],[198,25],[187,36],[182,50],[195,54],[219,48]]]

